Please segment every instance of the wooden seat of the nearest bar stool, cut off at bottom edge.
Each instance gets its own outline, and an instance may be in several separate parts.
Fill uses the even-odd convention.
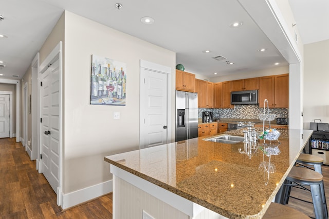
[[[306,214],[278,203],[271,203],[263,219],[309,219]]]

